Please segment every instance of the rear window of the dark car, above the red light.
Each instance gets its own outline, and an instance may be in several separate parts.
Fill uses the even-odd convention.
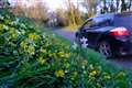
[[[124,26],[132,31],[132,14],[120,14],[114,16],[114,26]]]

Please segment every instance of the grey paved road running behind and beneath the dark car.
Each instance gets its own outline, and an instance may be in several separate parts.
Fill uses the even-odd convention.
[[[55,29],[54,32],[70,42],[74,42],[75,38],[75,32],[68,32],[63,29]],[[125,57],[118,57],[113,59],[108,59],[111,62],[113,65],[121,66],[125,69],[132,69],[132,56],[125,56]]]

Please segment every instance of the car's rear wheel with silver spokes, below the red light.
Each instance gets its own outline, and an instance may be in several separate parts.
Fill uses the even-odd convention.
[[[102,41],[99,43],[98,51],[105,55],[107,58],[112,57],[112,50],[108,42]]]

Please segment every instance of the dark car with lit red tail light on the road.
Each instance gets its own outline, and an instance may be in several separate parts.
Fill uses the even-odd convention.
[[[132,12],[88,19],[76,32],[76,42],[107,57],[132,55]]]

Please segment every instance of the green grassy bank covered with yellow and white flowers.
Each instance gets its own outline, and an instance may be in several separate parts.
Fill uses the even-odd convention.
[[[31,22],[0,15],[0,87],[129,88],[124,70],[95,52],[70,46]]]

